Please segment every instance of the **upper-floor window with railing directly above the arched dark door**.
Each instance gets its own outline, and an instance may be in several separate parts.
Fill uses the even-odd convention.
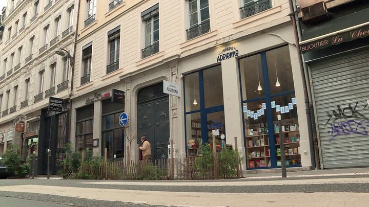
[[[145,48],[142,49],[142,58],[159,52],[159,4],[141,13],[145,22]]]

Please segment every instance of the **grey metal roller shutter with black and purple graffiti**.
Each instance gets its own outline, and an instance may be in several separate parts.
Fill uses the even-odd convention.
[[[369,166],[368,52],[311,65],[324,168]]]

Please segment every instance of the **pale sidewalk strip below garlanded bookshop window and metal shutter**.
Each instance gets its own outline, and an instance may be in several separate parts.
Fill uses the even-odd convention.
[[[289,168],[287,169],[289,170]],[[244,172],[244,171],[243,171]],[[262,172],[262,171],[258,171]],[[342,175],[369,175],[369,168],[343,168],[343,169],[324,169],[324,170],[309,170],[309,171],[287,171],[287,177],[318,177],[318,176],[342,176]],[[243,173],[245,178],[267,178],[281,177],[281,170],[273,173]]]

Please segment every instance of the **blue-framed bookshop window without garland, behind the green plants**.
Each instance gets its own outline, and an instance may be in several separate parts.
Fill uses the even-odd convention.
[[[217,65],[185,76],[185,122],[187,155],[198,155],[201,143],[212,139],[226,143],[221,66]]]

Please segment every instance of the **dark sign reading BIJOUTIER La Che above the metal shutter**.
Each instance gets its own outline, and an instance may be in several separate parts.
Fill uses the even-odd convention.
[[[343,42],[353,41],[355,39],[364,38],[369,36],[369,25],[365,25],[355,30],[338,33],[334,36],[322,38],[308,43],[300,45],[301,53],[307,53],[319,49],[324,49],[332,45],[337,45]]]

